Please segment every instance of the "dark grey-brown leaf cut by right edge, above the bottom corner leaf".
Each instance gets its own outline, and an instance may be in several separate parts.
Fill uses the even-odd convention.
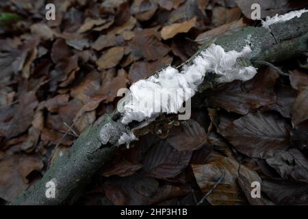
[[[293,178],[296,181],[308,183],[308,161],[307,157],[298,149],[278,151],[274,157],[266,159],[283,179]]]

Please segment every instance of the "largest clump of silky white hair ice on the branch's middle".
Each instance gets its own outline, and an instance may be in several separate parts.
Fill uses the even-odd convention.
[[[194,58],[192,64],[183,66],[181,72],[168,66],[157,75],[133,83],[125,98],[121,122],[127,125],[133,120],[153,119],[161,113],[177,114],[183,103],[194,96],[207,73],[216,73],[218,83],[253,78],[257,73],[253,66],[237,63],[239,57],[249,53],[248,45],[240,52],[225,52],[219,45],[211,44]]]

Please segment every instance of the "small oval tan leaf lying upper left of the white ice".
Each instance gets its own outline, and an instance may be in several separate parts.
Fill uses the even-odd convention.
[[[122,60],[123,55],[123,47],[112,47],[97,60],[97,66],[100,69],[112,68]]]

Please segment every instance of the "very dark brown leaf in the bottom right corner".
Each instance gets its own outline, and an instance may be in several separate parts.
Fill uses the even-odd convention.
[[[277,205],[308,205],[308,184],[281,179],[264,179],[261,191]]]

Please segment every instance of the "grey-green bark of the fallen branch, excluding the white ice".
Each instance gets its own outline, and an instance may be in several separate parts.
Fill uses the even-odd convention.
[[[264,27],[245,27],[231,36],[216,40],[215,44],[222,46],[224,51],[241,51],[248,38],[252,49],[250,61],[255,67],[259,66],[256,61],[276,63],[296,57],[307,52],[308,13],[285,23],[271,25],[270,30]],[[207,46],[202,46],[196,55]],[[184,64],[190,64],[196,55]],[[183,64],[177,68],[181,70],[182,67]],[[216,86],[215,79],[216,75],[207,74],[204,82],[198,87],[198,92]],[[112,158],[118,148],[116,142],[126,128],[118,121],[119,116],[116,111],[113,114],[105,114],[98,124],[88,127],[68,152],[55,159],[42,179],[25,190],[10,205],[73,204],[92,175]],[[151,132],[164,138],[168,129],[172,127],[172,123],[169,122],[176,119],[177,116],[163,114],[146,127],[142,123],[134,123],[129,127],[136,136]],[[107,137],[104,133],[107,133]],[[45,185],[48,181],[55,182],[55,198],[47,198],[45,195]]]

